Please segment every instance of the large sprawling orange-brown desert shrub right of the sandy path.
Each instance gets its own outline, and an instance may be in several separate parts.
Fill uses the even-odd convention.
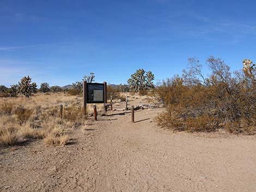
[[[232,76],[224,61],[210,57],[207,63],[212,74],[204,77],[198,61],[190,61],[196,63],[182,78],[163,80],[154,91],[155,100],[167,108],[157,117],[159,125],[178,131],[225,128],[233,133],[255,133],[254,69],[247,67],[250,76],[245,72]]]

